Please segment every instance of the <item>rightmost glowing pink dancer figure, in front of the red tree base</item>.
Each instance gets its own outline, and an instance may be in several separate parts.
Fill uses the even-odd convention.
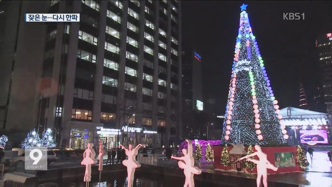
[[[271,164],[268,161],[266,154],[264,152],[262,152],[261,146],[255,145],[255,149],[256,149],[256,152],[254,152],[252,154],[248,154],[242,158],[239,158],[239,159],[237,159],[237,161],[247,158],[247,161],[257,164],[257,166],[256,166],[257,167],[257,179],[256,179],[257,187],[260,187],[262,177],[263,177],[263,185],[264,185],[264,187],[267,187],[268,186],[267,169],[272,169],[273,171],[277,171],[278,168],[275,167],[273,164]],[[255,155],[259,158],[259,160],[249,158],[249,157],[255,156]]]

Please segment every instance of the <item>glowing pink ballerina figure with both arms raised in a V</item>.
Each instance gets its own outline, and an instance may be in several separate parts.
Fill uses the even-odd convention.
[[[124,148],[125,154],[128,156],[127,160],[122,161],[122,164],[127,167],[127,181],[128,187],[132,187],[134,181],[134,174],[136,168],[141,167],[141,165],[136,161],[136,155],[138,154],[138,149],[143,146],[141,143],[136,145],[135,148],[131,149],[132,145],[128,145],[128,149],[124,145],[120,144],[120,147]]]

